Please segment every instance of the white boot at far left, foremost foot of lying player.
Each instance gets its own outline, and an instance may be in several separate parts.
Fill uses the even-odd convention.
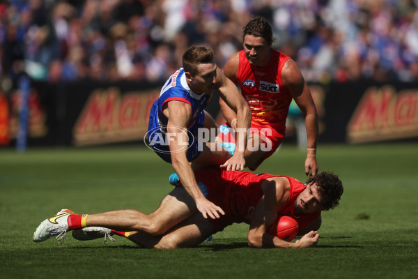
[[[33,233],[33,241],[41,242],[56,236],[56,240],[62,244],[66,232],[68,232],[68,216],[75,214],[68,209],[61,209],[55,216],[43,220]]]

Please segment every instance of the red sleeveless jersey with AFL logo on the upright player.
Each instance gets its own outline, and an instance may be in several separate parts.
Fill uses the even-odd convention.
[[[281,69],[289,56],[272,50],[268,65],[252,66],[245,52],[239,52],[237,83],[251,109],[252,122],[276,130],[286,130],[286,118],[292,96],[281,81]]]

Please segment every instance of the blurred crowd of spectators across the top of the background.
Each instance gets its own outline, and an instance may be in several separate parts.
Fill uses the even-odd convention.
[[[308,82],[418,80],[418,0],[2,1],[0,77],[160,82],[193,44],[223,68],[252,15]]]

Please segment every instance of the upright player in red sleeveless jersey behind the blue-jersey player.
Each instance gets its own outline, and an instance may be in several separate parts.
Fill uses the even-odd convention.
[[[242,96],[251,109],[246,166],[256,169],[279,147],[285,135],[286,117],[293,98],[304,114],[307,129],[305,173],[315,175],[318,172],[318,116],[302,73],[293,59],[272,50],[272,27],[263,17],[254,17],[247,23],[242,39],[244,50],[229,58],[224,73],[239,84]],[[226,121],[235,128],[236,114],[223,100],[219,104]]]

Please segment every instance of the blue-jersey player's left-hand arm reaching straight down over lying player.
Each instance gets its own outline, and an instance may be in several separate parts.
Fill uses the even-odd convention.
[[[187,149],[182,148],[184,147],[183,144],[187,143],[187,133],[178,133],[179,128],[183,128],[185,131],[187,130],[187,123],[192,117],[192,107],[187,103],[172,100],[168,102],[167,109],[163,113],[169,118],[167,133],[176,135],[175,137],[171,137],[169,141],[170,150],[176,151],[171,152],[171,164],[178,174],[180,181],[182,181],[183,187],[193,197],[196,202],[196,207],[203,214],[203,217],[219,218],[219,213],[224,214],[224,211],[203,196],[196,183],[192,167],[187,160]],[[182,151],[178,152],[178,150]]]

